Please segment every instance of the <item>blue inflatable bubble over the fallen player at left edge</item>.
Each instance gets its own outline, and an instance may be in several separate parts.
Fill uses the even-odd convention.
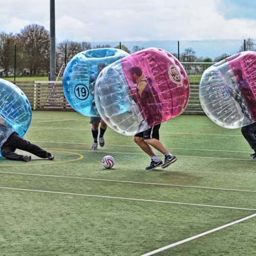
[[[23,137],[31,119],[31,106],[24,92],[15,84],[0,79],[0,148],[13,132]]]

